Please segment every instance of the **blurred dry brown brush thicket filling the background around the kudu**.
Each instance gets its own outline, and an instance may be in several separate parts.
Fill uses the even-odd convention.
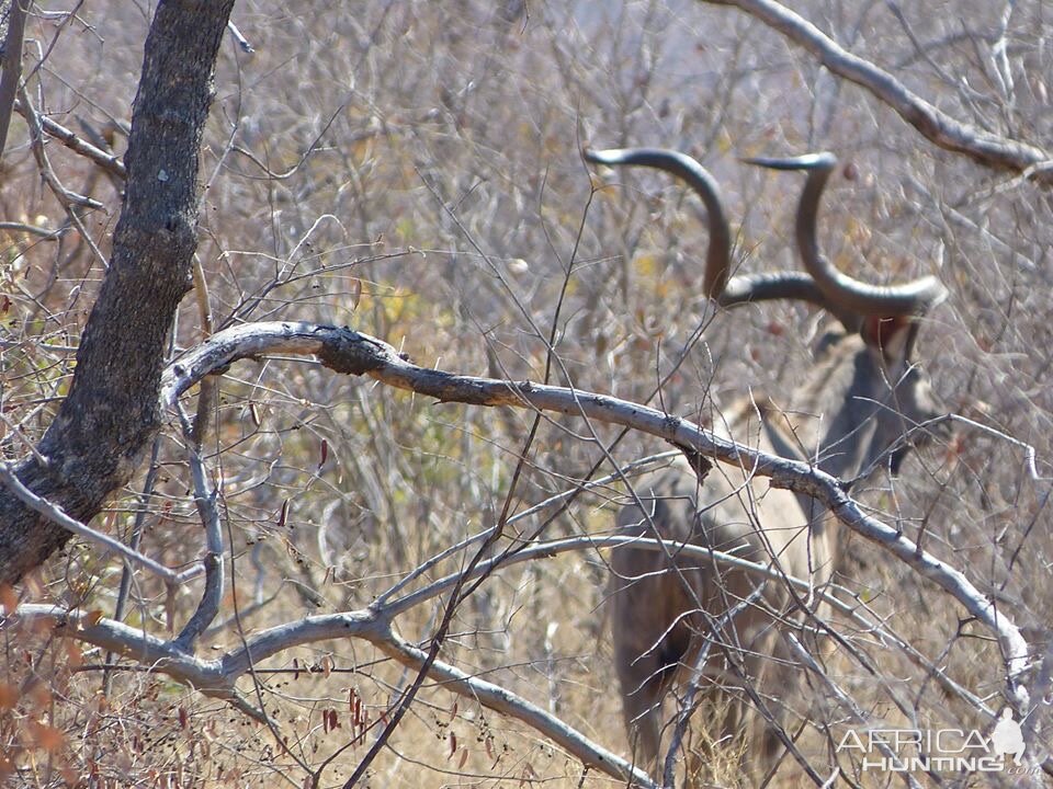
[[[822,316],[783,304],[714,311],[699,288],[698,201],[653,173],[591,170],[580,150],[690,151],[726,193],[744,271],[796,265],[800,182],[736,159],[837,151],[847,163],[824,209],[828,254],[871,282],[940,277],[950,297],[927,317],[919,354],[948,407],[986,428],[960,420],[897,478],[879,472],[851,493],[995,601],[1035,650],[1027,682],[1041,691],[1044,676],[1049,693],[1053,658],[1039,665],[1053,595],[1049,188],[940,150],[722,3],[449,5],[236,5],[254,52],[233,36],[220,48],[202,148],[203,278],[180,309],[171,358],[249,321],[347,325],[426,369],[573,387],[712,424],[722,404],[793,387]],[[1041,7],[803,5],[847,49],[959,121],[1053,144]],[[23,101],[120,155],[150,12],[35,5]],[[16,116],[0,162],[4,460],[41,437],[68,391],[123,188],[116,168],[55,136],[42,163],[29,138]],[[101,204],[76,209],[81,229],[42,179],[45,167]],[[200,561],[206,529],[186,445],[188,434],[203,438],[199,470],[218,491],[213,537],[227,584],[195,645],[201,661],[244,652],[265,628],[364,610],[431,557],[543,502],[509,519],[487,556],[523,540],[609,536],[626,501],[616,470],[669,448],[573,414],[437,403],[295,351],[222,373],[181,400],[196,432],[169,412],[150,462],[91,524],[177,571]],[[581,490],[601,478],[610,479]],[[403,592],[456,573],[478,545]],[[631,761],[604,616],[607,556],[554,552],[469,581],[439,658]],[[813,724],[792,735],[822,776],[839,765],[862,786],[898,784],[860,771],[834,744],[867,725],[857,713],[871,724],[989,732],[1010,701],[1004,643],[858,536],[843,564],[843,598],[886,632],[830,616],[837,643],[815,658],[854,711],[813,673],[804,689]],[[118,599],[129,638],[167,639],[194,613],[200,578],[166,587],[140,569],[122,592],[122,569],[114,553],[75,539],[3,590],[8,614],[19,604],[78,611],[58,625],[26,616],[0,627],[0,775],[12,786],[342,786],[417,679],[417,658],[399,662],[392,639],[427,650],[448,604],[407,606],[394,633],[249,655],[231,705],[177,682],[194,666],[150,671],[152,661],[81,638],[115,617]],[[625,784],[449,683],[423,683],[363,786]],[[1032,722],[1044,716],[1046,729],[1030,745],[1048,755],[1048,705],[1041,693],[1032,701]],[[709,754],[701,739],[691,746]],[[710,754],[727,784],[733,751]],[[774,785],[802,776],[788,758]],[[997,777],[948,782],[988,778]]]

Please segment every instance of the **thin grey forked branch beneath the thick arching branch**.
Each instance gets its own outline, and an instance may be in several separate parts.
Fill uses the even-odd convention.
[[[531,544],[513,556],[490,561],[510,565],[550,559],[567,551],[613,548],[626,542],[632,542],[636,547],[648,550],[664,550],[659,540],[646,537],[582,536]],[[867,632],[903,651],[913,663],[933,676],[948,693],[963,699],[977,713],[990,719],[995,717],[994,710],[987,707],[982,699],[958,685],[909,643],[882,627],[876,620],[863,616],[858,610],[858,602],[848,603],[840,596],[835,595],[837,593],[845,598],[851,598],[851,593],[846,590],[837,586],[822,590],[812,588],[808,581],[786,576],[771,567],[746,561],[739,557],[702,546],[679,546],[678,550],[683,552],[684,556],[710,558],[721,564],[740,568],[760,578],[790,583],[802,592],[818,595],[842,615],[856,621]],[[478,578],[490,572],[492,568],[489,564],[490,562],[479,564],[466,579]],[[456,575],[455,573],[452,576],[439,579],[418,592],[388,604],[381,603],[377,599],[365,609],[305,617],[261,630],[249,636],[240,647],[212,660],[203,660],[194,655],[191,651],[192,644],[181,643],[179,640],[163,641],[139,628],[133,628],[113,619],[101,618],[98,611],[69,610],[49,604],[20,605],[12,616],[0,617],[0,628],[19,622],[49,622],[55,628],[55,634],[57,636],[73,638],[84,643],[121,653],[139,664],[148,665],[178,682],[190,685],[206,696],[224,699],[247,714],[260,718],[259,710],[238,695],[237,681],[245,676],[253,665],[258,665],[260,661],[296,645],[333,639],[358,638],[373,643],[385,654],[408,667],[420,668],[427,653],[398,638],[394,633],[390,622],[399,614],[406,613],[410,608],[448,591]],[[638,770],[634,771],[634,768],[624,761],[589,741],[555,716],[548,714],[500,685],[473,677],[441,661],[434,663],[429,671],[429,676],[441,681],[444,687],[453,693],[477,700],[489,709],[523,721],[535,731],[565,747],[568,753],[587,764],[595,765],[612,777],[624,780],[632,776],[637,786],[653,786]],[[1038,686],[1035,689],[1041,690],[1043,687]]]

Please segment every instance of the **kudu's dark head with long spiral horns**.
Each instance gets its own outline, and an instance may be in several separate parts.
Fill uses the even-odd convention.
[[[729,307],[771,299],[801,299],[825,309],[845,328],[843,336],[817,359],[816,374],[801,395],[824,425],[814,446],[819,466],[838,476],[853,476],[887,456],[895,471],[910,445],[924,441],[918,425],[942,411],[915,359],[920,319],[947,297],[932,276],[899,285],[871,285],[838,271],[819,251],[819,203],[830,173],[833,153],[788,159],[746,159],[774,170],[807,173],[797,204],[795,235],[803,272],[731,275],[732,232],[720,187],[694,159],[656,148],[586,150],[591,162],[643,165],[664,170],[691,186],[705,205],[709,224],[703,291]],[[853,356],[854,354],[854,356]],[[846,358],[851,357],[851,364]],[[814,448],[813,446],[813,448]]]

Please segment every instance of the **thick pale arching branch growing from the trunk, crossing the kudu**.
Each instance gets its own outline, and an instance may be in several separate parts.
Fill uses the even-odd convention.
[[[315,354],[327,367],[365,375],[397,389],[472,405],[511,405],[580,416],[639,430],[722,462],[768,477],[775,488],[812,496],[853,531],[878,544],[959,602],[990,629],[1001,644],[1008,691],[1021,706],[1028,693],[1019,679],[1028,668],[1030,648],[1019,628],[959,570],[907,539],[902,530],[869,515],[840,481],[814,466],[752,449],[702,430],[687,420],[620,400],[531,381],[463,376],[419,367],[394,347],[351,329],[304,322],[250,323],[214,334],[171,365],[161,379],[162,404],[170,405],[202,377],[239,358],[263,353]]]

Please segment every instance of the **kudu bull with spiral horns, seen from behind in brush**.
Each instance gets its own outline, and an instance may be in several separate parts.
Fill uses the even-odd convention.
[[[768,453],[807,459],[842,480],[882,466],[895,471],[912,444],[925,438],[924,431],[912,428],[939,414],[929,382],[912,359],[917,319],[946,290],[933,277],[868,285],[819,254],[816,216],[835,157],[749,160],[807,171],[796,215],[806,273],[735,277],[729,277],[732,236],[720,192],[697,161],[652,149],[587,151],[586,157],[665,170],[699,194],[710,236],[702,286],[717,304],[804,299],[837,318],[845,330],[828,335],[795,391],[744,402],[725,413],[715,430]],[[757,717],[747,724],[741,690],[752,687],[768,708],[766,718],[788,722],[780,700],[796,685],[801,668],[793,665],[774,622],[784,628],[800,621],[807,595],[714,561],[680,558],[670,563],[669,557],[691,541],[822,585],[837,559],[837,526],[809,498],[770,488],[749,468],[716,466],[700,483],[681,461],[653,481],[637,483],[636,494],[638,504],[618,516],[621,534],[657,533],[667,541],[667,552],[627,545],[611,556],[614,660],[635,756],[649,768],[657,766],[663,698],[707,643],[701,690],[717,702],[714,709],[727,710],[720,721],[709,721],[709,737],[754,734],[744,742],[745,759],[758,773],[767,769],[781,750],[780,739],[774,727]],[[751,595],[752,602],[743,605]]]

